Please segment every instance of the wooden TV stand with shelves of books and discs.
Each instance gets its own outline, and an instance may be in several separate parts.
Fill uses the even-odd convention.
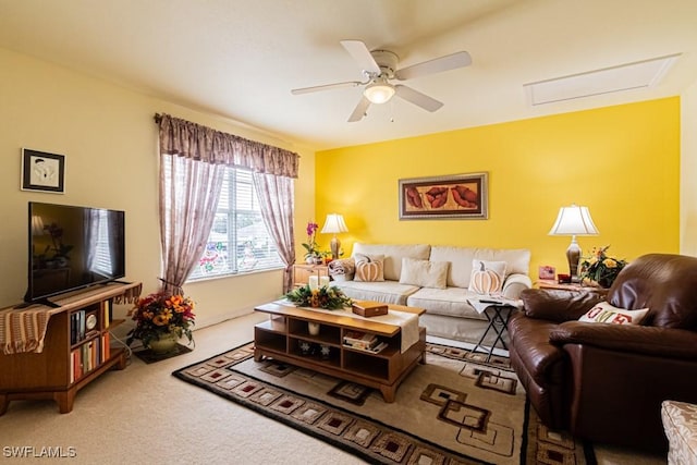
[[[123,320],[111,320],[113,298],[140,283],[108,283],[87,290],[56,296],[51,308],[35,304],[23,311],[50,309],[50,317],[40,353],[24,352],[5,355],[0,350],[0,415],[15,400],[54,400],[59,412],[73,409],[75,394],[105,371],[126,367],[123,347],[111,347],[109,330]],[[94,315],[94,329],[87,330],[86,319]],[[0,325],[4,320],[0,318]],[[82,330],[85,328],[85,330]]]

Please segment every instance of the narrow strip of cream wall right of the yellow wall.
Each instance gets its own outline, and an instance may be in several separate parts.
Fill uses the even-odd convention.
[[[680,252],[697,256],[697,82],[681,96]]]

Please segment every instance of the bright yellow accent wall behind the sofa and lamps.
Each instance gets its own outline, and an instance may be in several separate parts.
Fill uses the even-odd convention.
[[[399,220],[398,180],[481,171],[488,220]],[[578,237],[584,254],[607,244],[628,259],[677,253],[680,99],[321,151],[316,179],[318,218],[344,215],[346,254],[354,241],[526,247],[535,278],[539,265],[567,269],[571,237],[547,233],[572,203],[587,206],[600,230]]]

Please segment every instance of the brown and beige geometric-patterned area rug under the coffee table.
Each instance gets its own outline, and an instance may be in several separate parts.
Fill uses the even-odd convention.
[[[545,428],[509,359],[427,344],[386,403],[379,391],[285,363],[252,343],[173,375],[370,463],[587,464],[583,444]]]

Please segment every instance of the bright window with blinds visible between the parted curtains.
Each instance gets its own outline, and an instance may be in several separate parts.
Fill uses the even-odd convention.
[[[264,224],[252,172],[227,169],[206,250],[188,280],[283,266]]]

